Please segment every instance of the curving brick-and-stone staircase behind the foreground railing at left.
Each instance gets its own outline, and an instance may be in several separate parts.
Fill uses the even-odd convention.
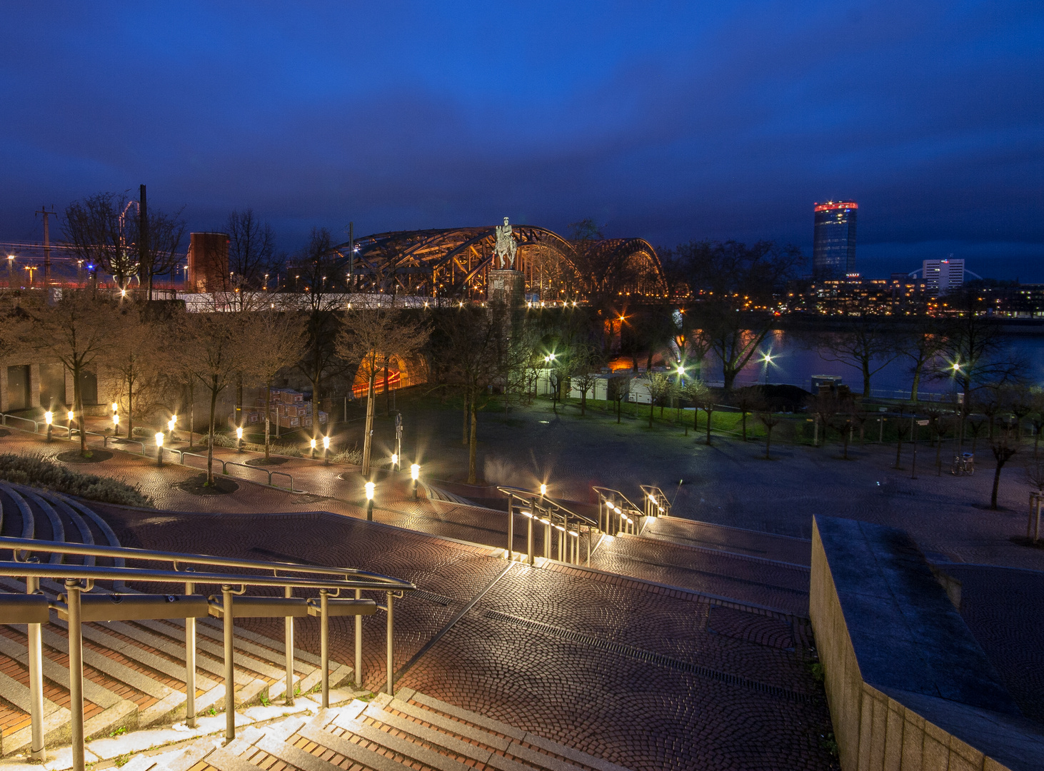
[[[109,525],[82,502],[53,492],[0,482],[0,533],[76,544],[119,546]],[[9,552],[3,555],[9,559]],[[44,557],[47,558],[46,556]],[[94,557],[53,555],[52,562],[93,563]],[[123,560],[115,560],[121,563]],[[98,564],[114,560],[97,558]],[[51,599],[64,593],[52,581],[41,589]],[[128,589],[121,589],[127,592]],[[0,592],[25,593],[25,583],[0,578]],[[100,587],[95,593],[105,592]],[[2,620],[0,620],[2,622]],[[44,737],[48,747],[70,740],[67,624],[51,611],[43,627]],[[88,740],[147,728],[185,718],[185,622],[127,621],[84,624],[85,736]],[[28,749],[30,699],[28,640],[24,624],[0,623],[0,755]],[[236,705],[245,707],[285,697],[286,648],[281,641],[237,627]],[[196,622],[196,714],[223,708],[222,626],[216,619]],[[294,650],[294,692],[318,686],[318,656]],[[331,662],[330,686],[352,679],[352,668]],[[341,699],[355,695],[341,692]]]

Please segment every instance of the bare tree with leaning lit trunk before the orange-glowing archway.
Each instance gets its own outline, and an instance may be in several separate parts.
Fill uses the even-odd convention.
[[[370,479],[373,450],[374,385],[377,372],[393,358],[413,359],[427,342],[426,323],[409,319],[392,309],[353,309],[345,314],[343,327],[336,337],[335,353],[347,362],[359,362],[366,378],[366,425],[362,440],[362,476]]]

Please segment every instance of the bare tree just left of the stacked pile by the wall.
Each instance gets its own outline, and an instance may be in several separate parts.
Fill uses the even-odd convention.
[[[276,376],[301,357],[305,344],[305,320],[296,313],[276,309],[257,311],[247,322],[250,356],[244,362],[248,379],[261,383],[264,396],[264,457],[271,442],[271,387]],[[313,415],[318,420],[318,415]]]

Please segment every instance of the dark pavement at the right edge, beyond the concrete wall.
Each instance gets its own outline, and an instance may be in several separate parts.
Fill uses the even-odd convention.
[[[960,615],[1027,717],[1044,723],[1044,574],[941,565],[962,581]]]

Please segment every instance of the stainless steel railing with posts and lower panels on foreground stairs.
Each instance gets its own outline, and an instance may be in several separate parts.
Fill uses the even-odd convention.
[[[224,627],[224,699],[226,699],[226,737],[229,740],[235,738],[235,678],[233,671],[234,656],[234,618],[282,617],[287,622],[287,646],[286,646],[286,698],[289,703],[293,699],[293,628],[292,618],[312,615],[319,618],[321,624],[321,667],[322,667],[322,693],[323,706],[329,706],[329,619],[331,613],[335,616],[356,617],[356,682],[361,681],[361,617],[372,615],[378,608],[387,613],[387,692],[394,694],[394,598],[402,597],[404,592],[416,589],[416,585],[409,581],[383,576],[377,573],[358,571],[349,568],[337,568],[327,565],[304,565],[294,562],[268,562],[262,560],[235,559],[216,557],[212,555],[189,554],[180,552],[161,552],[144,549],[127,549],[123,547],[96,547],[81,544],[60,544],[54,541],[33,540],[28,538],[2,538],[0,537],[0,550],[10,549],[16,561],[0,561],[0,576],[10,576],[15,578],[25,578],[26,594],[40,596],[40,580],[42,578],[55,579],[63,582],[65,595],[60,595],[56,602],[47,603],[42,610],[42,615],[35,618],[34,622],[25,620],[28,623],[29,637],[29,684],[31,697],[31,719],[32,719],[32,740],[31,754],[35,760],[43,760],[44,732],[43,732],[43,673],[42,673],[42,645],[41,626],[49,622],[49,609],[55,609],[60,615],[64,613],[69,624],[69,681],[70,681],[70,704],[71,713],[71,733],[73,749],[73,770],[84,771],[84,661],[82,661],[82,634],[81,624],[85,620],[84,593],[90,593],[95,588],[96,581],[126,582],[138,581],[144,583],[159,584],[184,584],[184,596],[152,596],[141,593],[118,595],[122,602],[100,604],[95,598],[105,595],[87,595],[89,602],[88,620],[112,620],[121,619],[165,619],[184,618],[186,626],[186,717],[187,723],[193,725],[195,722],[195,618],[206,608],[207,615],[218,616],[223,619]],[[40,552],[44,554],[78,554],[93,555],[98,557],[123,558],[124,560],[149,560],[169,561],[172,570],[156,570],[151,568],[103,568],[94,565],[72,565],[72,564],[43,564],[32,561],[17,561],[22,554],[28,552]],[[246,573],[231,572],[196,572],[185,570],[187,565],[209,565],[215,568],[233,568],[237,570],[257,570],[272,575],[257,575]],[[279,575],[280,573],[305,574],[307,577]],[[334,578],[333,576],[337,576]],[[195,594],[199,584],[211,584],[220,587],[221,599],[217,601],[217,596],[209,600]],[[238,588],[236,588],[238,586]],[[284,597],[255,597],[245,596],[247,586],[282,587]],[[295,588],[318,589],[319,602],[316,604],[306,603],[303,599],[293,598]],[[331,604],[331,600],[336,598],[341,591],[354,589],[354,598],[342,600]],[[386,603],[383,606],[377,605],[372,600],[364,600],[361,597],[363,591],[383,592],[386,595]],[[109,595],[110,597],[117,595]],[[242,599],[237,606],[235,597]],[[157,598],[166,597],[167,602]],[[18,601],[14,598],[18,598]],[[171,600],[181,599],[183,602]],[[0,610],[4,611],[7,618],[19,618],[24,613],[25,598],[21,595],[0,595]],[[39,605],[39,603],[37,603]],[[175,606],[179,608],[175,610]],[[129,613],[129,615],[128,615]]]

